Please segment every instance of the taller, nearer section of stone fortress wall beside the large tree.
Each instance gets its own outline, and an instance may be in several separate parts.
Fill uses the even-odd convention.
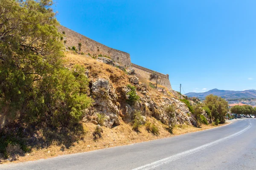
[[[72,46],[75,46],[79,53],[90,53],[91,56],[95,57],[102,54],[102,56],[110,57],[115,62],[118,62],[120,65],[126,68],[131,67],[130,54],[109,48],[106,45],[91,40],[90,38],[87,38],[64,26],[59,26],[58,29],[61,34],[63,31],[65,32],[65,34],[62,35],[63,41],[65,41],[65,47],[67,49],[68,47],[72,48]],[[81,47],[79,46],[79,43],[81,43]]]

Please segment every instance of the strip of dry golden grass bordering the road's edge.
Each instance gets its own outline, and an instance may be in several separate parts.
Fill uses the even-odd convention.
[[[137,133],[134,130],[132,130],[130,124],[126,124],[122,121],[122,119],[120,120],[121,124],[112,129],[102,127],[102,138],[96,141],[93,138],[93,131],[95,130],[97,125],[94,125],[93,123],[84,123],[83,126],[86,133],[81,137],[81,140],[79,140],[78,142],[74,142],[70,148],[65,148],[65,146],[60,146],[58,144],[52,144],[51,146],[45,149],[34,148],[30,153],[26,153],[25,156],[17,156],[16,160],[12,162],[24,162],[34,161],[38,159],[47,159],[64,154],[88,152],[92,150],[145,142],[180,135],[184,133],[205,130],[212,127],[218,127],[211,125],[202,125],[201,128],[198,128],[193,127],[191,125],[176,125],[176,127],[174,127],[173,129],[173,134],[170,134],[166,130],[166,125],[163,125],[161,122],[157,121],[154,118],[148,118],[148,122],[154,122],[154,124],[159,128],[160,134],[157,136],[153,135],[152,133],[149,133],[148,130],[146,130],[145,125],[141,126],[140,133]],[[0,159],[0,161],[3,161],[4,163],[9,162],[8,160],[4,159]]]

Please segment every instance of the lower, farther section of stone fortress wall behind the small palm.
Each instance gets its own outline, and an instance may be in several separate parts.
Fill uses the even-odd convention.
[[[142,67],[140,65],[133,64],[133,63],[131,65],[132,65],[132,68],[134,68],[135,73],[140,75],[140,77],[144,77],[145,79],[149,79],[149,75],[151,73],[156,72],[157,75],[159,76],[158,84],[163,85],[163,86],[172,90],[172,86],[171,86],[171,83],[169,81],[169,75],[168,74],[158,73],[157,71],[153,71],[153,70],[150,70],[148,68],[145,68],[145,67]],[[156,82],[156,81],[152,80],[152,82]]]

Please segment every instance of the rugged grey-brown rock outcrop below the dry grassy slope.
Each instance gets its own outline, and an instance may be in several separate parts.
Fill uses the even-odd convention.
[[[122,102],[122,106],[117,105],[117,93],[109,80],[101,78],[92,82],[91,96],[94,99],[94,103],[90,111],[86,112],[86,120],[88,119],[93,124],[98,124],[97,115],[103,114],[105,116],[104,126],[111,128],[120,124],[120,113],[122,113],[120,116],[125,122],[132,122],[134,113],[139,111],[144,119],[146,119],[147,116],[153,116],[164,124],[168,124],[165,108],[168,105],[174,104],[176,108],[176,124],[186,123],[196,125],[195,119],[188,116],[190,112],[185,103],[167,96],[161,97],[155,101],[152,94],[143,87],[143,83],[140,83],[137,77],[130,77],[130,82],[137,88],[136,93],[141,93],[140,100],[133,104]],[[130,97],[128,94],[129,91],[131,91],[130,88],[126,86],[122,87],[121,91],[119,91],[119,93],[122,93],[119,94],[122,96],[120,99],[123,101],[128,100]]]

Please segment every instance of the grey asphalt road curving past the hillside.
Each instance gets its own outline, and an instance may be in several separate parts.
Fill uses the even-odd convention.
[[[0,170],[256,170],[256,119],[211,130],[58,156]]]

